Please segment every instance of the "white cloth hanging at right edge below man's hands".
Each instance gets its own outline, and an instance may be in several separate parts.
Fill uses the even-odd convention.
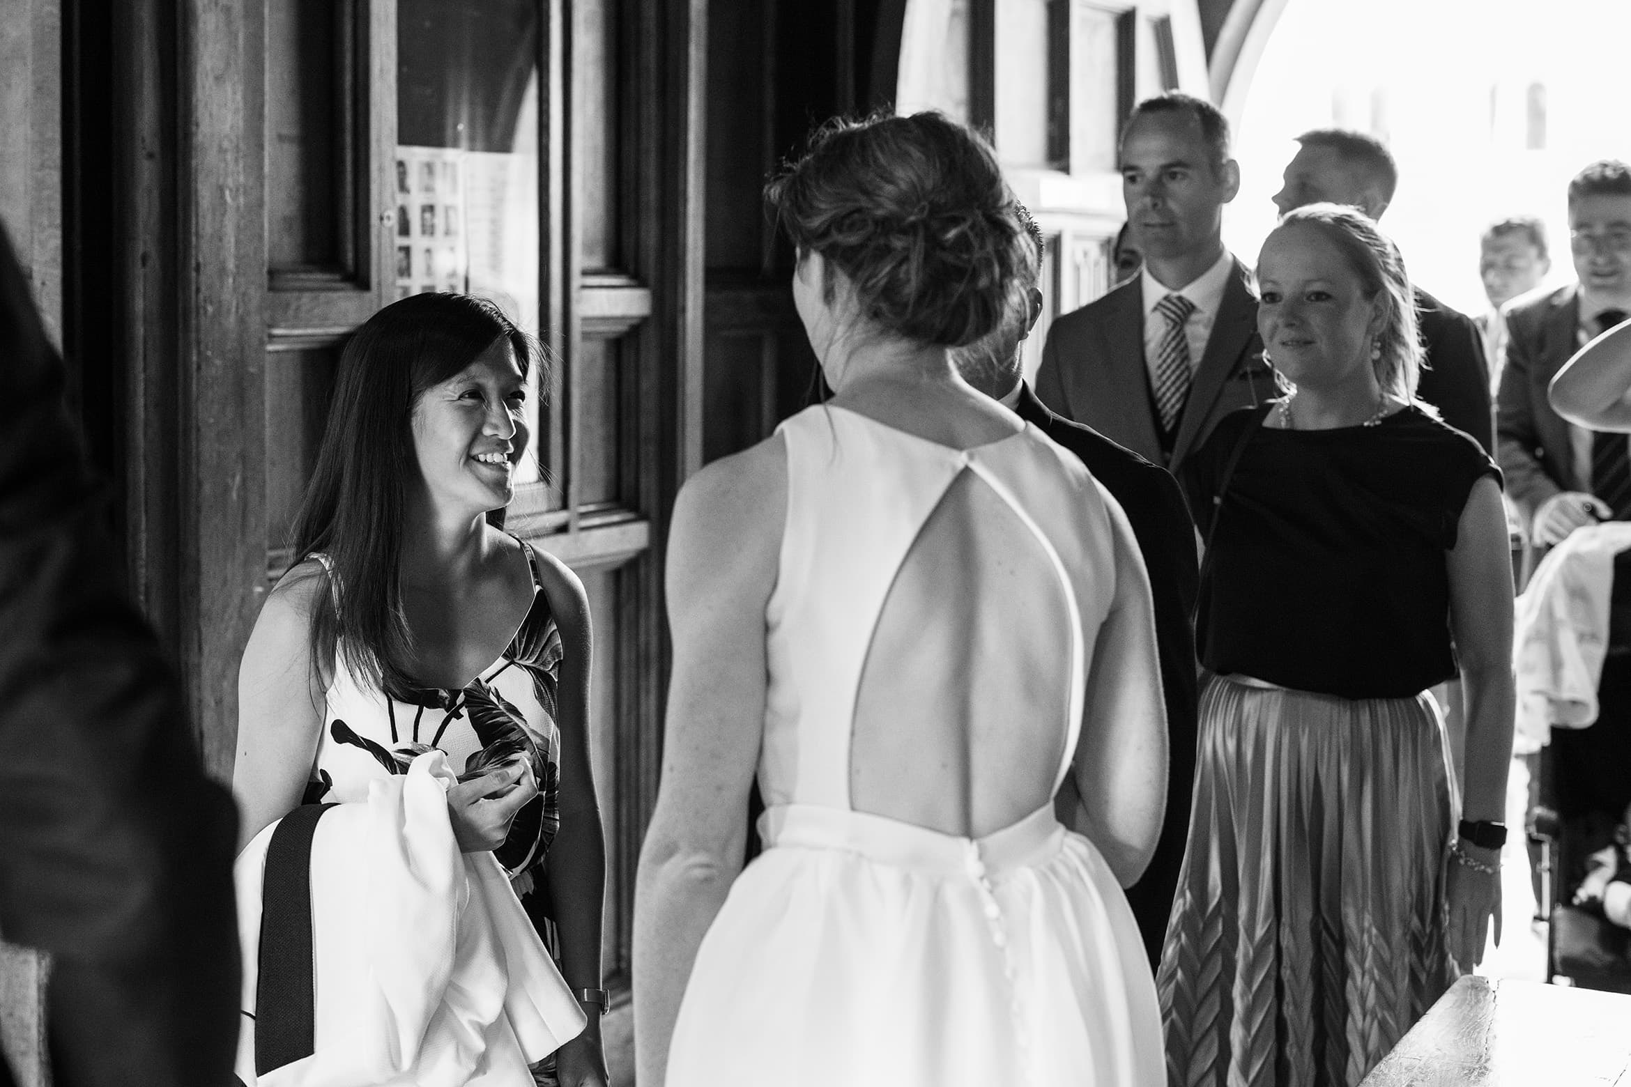
[[[1554,725],[1585,728],[1597,720],[1615,556],[1628,548],[1631,521],[1577,528],[1541,559],[1518,596],[1512,667],[1520,755],[1545,746]]]

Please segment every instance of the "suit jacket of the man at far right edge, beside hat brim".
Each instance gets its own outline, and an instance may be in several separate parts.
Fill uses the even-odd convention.
[[[1505,313],[1496,460],[1527,528],[1546,499],[1577,486],[1569,424],[1551,409],[1546,386],[1579,347],[1579,285],[1518,300]]]

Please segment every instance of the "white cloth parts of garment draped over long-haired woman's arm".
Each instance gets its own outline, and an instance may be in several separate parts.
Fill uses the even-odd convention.
[[[584,1014],[491,852],[462,854],[442,751],[328,810],[312,839],[315,1053],[256,1077],[261,877],[272,826],[235,865],[245,1087],[528,1087]]]

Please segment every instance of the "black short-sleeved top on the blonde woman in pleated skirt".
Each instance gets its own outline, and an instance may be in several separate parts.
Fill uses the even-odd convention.
[[[1186,471],[1210,530],[1251,409]],[[1501,471],[1465,433],[1406,407],[1375,427],[1258,427],[1217,505],[1200,583],[1200,662],[1298,691],[1411,698],[1455,676],[1450,572],[1461,508]]]

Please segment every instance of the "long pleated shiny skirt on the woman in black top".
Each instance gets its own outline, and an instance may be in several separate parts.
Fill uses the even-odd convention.
[[[1169,1084],[1354,1087],[1458,973],[1439,711],[1210,676],[1199,745],[1156,976]]]

